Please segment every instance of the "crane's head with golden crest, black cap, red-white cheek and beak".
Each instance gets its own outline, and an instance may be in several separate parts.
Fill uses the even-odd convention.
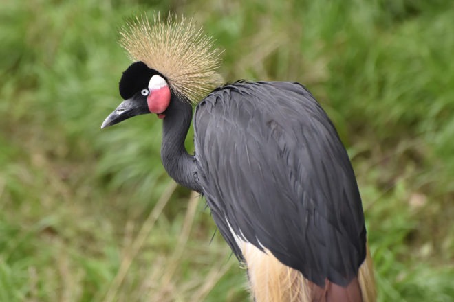
[[[123,102],[101,128],[145,113],[166,116],[171,102],[195,104],[221,84],[216,72],[220,51],[193,21],[158,14],[129,21],[120,31],[120,45],[133,60],[120,80]]]

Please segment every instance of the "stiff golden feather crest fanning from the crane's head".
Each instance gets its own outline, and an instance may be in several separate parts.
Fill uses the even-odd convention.
[[[180,97],[196,103],[221,84],[221,63],[213,39],[192,20],[175,16],[137,16],[120,30],[120,45],[133,61],[162,73]]]

